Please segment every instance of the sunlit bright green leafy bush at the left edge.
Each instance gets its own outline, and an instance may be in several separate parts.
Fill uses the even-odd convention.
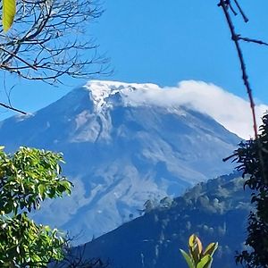
[[[65,239],[58,230],[29,219],[46,198],[71,193],[61,175],[63,157],[49,151],[21,147],[13,155],[0,149],[0,266],[46,267],[63,258]]]

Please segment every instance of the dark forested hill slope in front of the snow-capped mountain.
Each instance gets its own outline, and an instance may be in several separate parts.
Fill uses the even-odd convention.
[[[218,241],[214,267],[236,267],[234,256],[246,238],[250,194],[238,174],[197,184],[168,206],[123,224],[85,246],[73,249],[108,260],[111,268],[186,267],[179,249],[188,251],[188,237],[196,233],[204,247]]]

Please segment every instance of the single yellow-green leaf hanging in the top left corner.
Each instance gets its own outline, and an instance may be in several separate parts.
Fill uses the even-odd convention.
[[[14,21],[16,13],[16,0],[3,0],[2,23],[4,31],[8,31]]]

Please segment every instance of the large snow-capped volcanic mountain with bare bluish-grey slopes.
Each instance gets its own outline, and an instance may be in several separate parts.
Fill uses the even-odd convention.
[[[229,173],[222,158],[239,138],[186,105],[159,105],[153,84],[90,81],[37,113],[0,123],[1,143],[63,152],[71,197],[48,201],[38,222],[82,243],[139,215],[147,199],[179,196],[199,181]],[[147,96],[144,98],[143,96]]]

